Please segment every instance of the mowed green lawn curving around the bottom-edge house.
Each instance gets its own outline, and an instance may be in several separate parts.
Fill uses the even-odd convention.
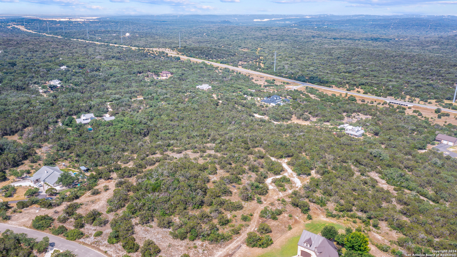
[[[345,229],[343,225],[335,224],[325,220],[310,220],[303,226],[304,230],[308,230],[309,232],[313,232],[314,234],[319,234],[320,231],[326,225],[334,225],[337,230]],[[292,257],[297,255],[297,244],[300,236],[302,235],[302,231],[300,230],[297,235],[292,236],[287,242],[281,246],[280,250],[266,252],[258,257]]]

